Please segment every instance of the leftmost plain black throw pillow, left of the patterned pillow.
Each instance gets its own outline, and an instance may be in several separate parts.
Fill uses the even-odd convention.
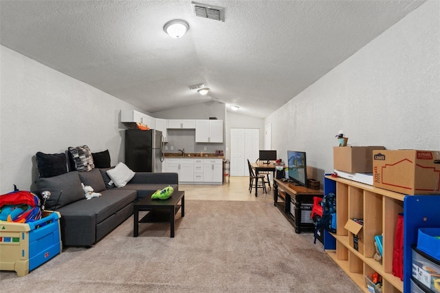
[[[41,153],[35,155],[39,177],[48,178],[67,173],[65,153]]]

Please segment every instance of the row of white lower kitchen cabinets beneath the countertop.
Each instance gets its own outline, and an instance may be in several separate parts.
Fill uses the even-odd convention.
[[[179,174],[179,184],[223,184],[222,159],[165,158],[164,172]]]

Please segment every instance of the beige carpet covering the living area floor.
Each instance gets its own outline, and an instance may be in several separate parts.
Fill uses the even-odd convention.
[[[186,200],[169,225],[133,216],[94,248],[65,248],[27,276],[0,272],[1,292],[362,292],[311,233],[273,203]]]

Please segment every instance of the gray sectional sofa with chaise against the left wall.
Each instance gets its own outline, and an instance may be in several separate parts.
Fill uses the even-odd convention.
[[[177,173],[135,173],[128,184],[118,188],[109,184],[106,171],[71,171],[36,180],[35,193],[52,194],[45,209],[61,213],[63,246],[92,246],[133,214],[137,200],[168,185],[175,191],[179,187]],[[102,196],[86,199],[81,183]]]

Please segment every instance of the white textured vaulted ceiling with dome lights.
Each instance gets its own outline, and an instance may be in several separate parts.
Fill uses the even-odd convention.
[[[423,2],[198,1],[222,22],[184,0],[1,0],[0,43],[150,113],[216,100],[265,118]]]

